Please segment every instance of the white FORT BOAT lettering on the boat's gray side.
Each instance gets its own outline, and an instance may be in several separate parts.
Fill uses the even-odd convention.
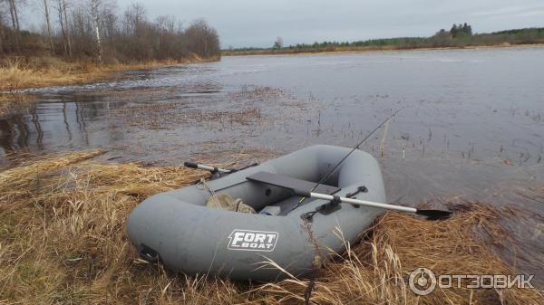
[[[229,250],[271,252],[276,248],[277,232],[234,229],[228,235]]]

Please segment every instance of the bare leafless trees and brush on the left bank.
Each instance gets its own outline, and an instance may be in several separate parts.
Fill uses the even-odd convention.
[[[53,55],[114,64],[219,56],[219,35],[206,21],[186,27],[172,16],[150,21],[140,4],[118,14],[112,0],[43,0],[44,14],[34,13],[39,18],[33,20],[44,24],[41,31],[22,28],[24,9],[36,10],[27,0],[0,0],[0,57]]]

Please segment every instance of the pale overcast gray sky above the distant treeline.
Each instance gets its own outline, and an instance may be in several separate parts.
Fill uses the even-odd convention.
[[[117,0],[118,12],[134,2],[151,20],[206,19],[223,48],[430,36],[465,22],[476,33],[544,26],[544,0]]]

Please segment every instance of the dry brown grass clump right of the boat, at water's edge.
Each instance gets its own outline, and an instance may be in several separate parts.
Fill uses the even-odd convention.
[[[318,304],[544,304],[536,290],[437,289],[419,297],[407,289],[407,275],[419,267],[437,275],[513,274],[491,251],[513,245],[498,224],[511,212],[473,205],[439,222],[385,214],[362,243],[353,248],[346,244],[348,251],[339,258],[347,259],[327,264],[316,281],[312,300]],[[475,234],[475,229],[480,234]],[[281,296],[277,300],[301,301],[307,284],[290,279],[262,289]]]

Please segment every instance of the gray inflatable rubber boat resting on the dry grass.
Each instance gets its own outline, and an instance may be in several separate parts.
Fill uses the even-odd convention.
[[[304,148],[208,181],[206,187],[187,186],[153,195],[131,213],[131,241],[143,258],[189,274],[254,281],[285,277],[277,268],[263,267],[269,260],[291,274],[305,276],[312,271],[317,254],[343,251],[344,241],[335,230],[353,243],[384,211],[313,198],[301,202],[301,196],[289,189],[384,203],[380,167],[361,150],[347,157],[322,185],[312,188],[350,150],[325,145]],[[257,214],[210,208],[207,202],[212,194],[240,198]]]

